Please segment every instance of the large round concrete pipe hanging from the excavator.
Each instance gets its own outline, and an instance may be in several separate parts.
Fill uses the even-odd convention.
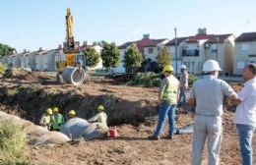
[[[63,70],[62,78],[66,83],[81,85],[86,79],[86,72],[83,68],[81,68],[81,71],[79,71],[77,67],[66,67]]]

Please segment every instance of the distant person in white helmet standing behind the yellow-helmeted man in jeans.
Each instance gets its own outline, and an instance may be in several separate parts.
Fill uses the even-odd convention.
[[[179,94],[179,102],[178,107],[184,107],[186,109],[187,104],[187,89],[188,89],[188,73],[186,71],[186,66],[182,64],[180,66],[180,78],[179,78],[179,85],[180,85],[180,94]]]

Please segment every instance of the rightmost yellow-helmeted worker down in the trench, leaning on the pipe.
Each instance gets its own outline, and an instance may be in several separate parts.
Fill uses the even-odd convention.
[[[98,128],[107,128],[107,115],[104,113],[103,105],[97,106],[97,114],[88,120],[89,123],[96,123]]]

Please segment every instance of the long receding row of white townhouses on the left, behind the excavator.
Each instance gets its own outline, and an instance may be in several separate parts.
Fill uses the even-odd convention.
[[[99,45],[88,45],[87,42],[81,46],[81,50],[87,47],[93,47],[100,54],[102,47]],[[37,51],[27,51],[22,53],[13,53],[9,56],[1,58],[1,62],[15,68],[30,68],[32,71],[58,71],[56,63],[64,61],[66,58],[61,45],[57,49],[43,50],[39,48]],[[102,69],[102,60],[100,59],[96,67],[90,70]]]

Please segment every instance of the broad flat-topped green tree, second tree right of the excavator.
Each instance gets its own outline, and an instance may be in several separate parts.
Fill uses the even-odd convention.
[[[120,63],[120,55],[115,43],[107,43],[102,41],[100,45],[102,45],[100,56],[102,59],[103,67],[109,69],[110,67],[118,66]]]

